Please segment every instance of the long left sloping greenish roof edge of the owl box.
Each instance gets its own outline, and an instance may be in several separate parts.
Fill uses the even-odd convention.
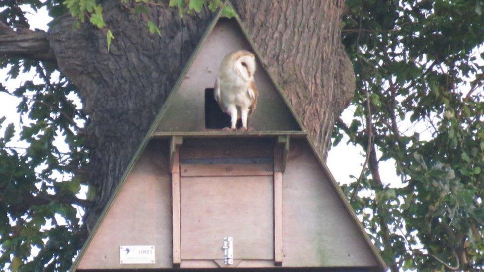
[[[224,5],[227,4],[227,1],[228,0],[225,1]],[[144,151],[146,145],[148,144],[149,140],[151,139],[153,133],[155,132],[155,129],[157,128],[158,123],[160,122],[163,113],[167,109],[167,105],[170,103],[171,100],[173,100],[174,93],[178,90],[178,88],[182,84],[182,81],[185,78],[185,75],[188,72],[188,69],[191,67],[193,60],[195,59],[196,55],[200,51],[202,44],[204,43],[204,41],[208,37],[208,35],[212,32],[213,28],[215,27],[215,24],[218,22],[220,15],[222,14],[222,11],[223,11],[223,7],[219,9],[219,11],[215,15],[215,17],[212,19],[210,24],[207,26],[207,29],[205,30],[203,36],[201,37],[201,39],[198,42],[195,49],[193,50],[193,53],[191,54],[190,58],[188,59],[187,63],[185,64],[185,67],[183,68],[182,72],[180,73],[180,76],[178,77],[175,85],[171,89],[171,91],[168,95],[168,98],[164,101],[162,108],[160,109],[160,111],[158,111],[158,114],[155,117],[155,120],[153,121],[153,123],[151,124],[148,132],[144,136],[143,141],[139,145],[138,149],[136,150],[136,153],[134,153],[133,157],[131,158],[131,161],[129,162],[128,166],[126,167],[126,170],[124,171],[124,173],[121,177],[121,182],[119,182],[118,185],[116,186],[116,189],[115,189],[113,195],[111,195],[108,203],[104,207],[103,212],[99,216],[96,224],[94,225],[94,228],[92,229],[91,233],[89,234],[86,241],[84,242],[84,245],[82,246],[81,250],[79,251],[79,255],[77,255],[77,257],[76,257],[75,261],[72,263],[72,266],[70,267],[69,271],[73,272],[73,271],[77,270],[77,267],[79,266],[79,263],[80,263],[82,257],[84,256],[86,249],[91,244],[91,241],[92,241],[94,235],[96,234],[96,232],[98,231],[102,221],[104,220],[104,218],[108,214],[108,211],[111,208],[111,206],[113,205],[114,200],[116,199],[116,197],[120,193],[121,188],[124,185],[124,183],[126,182],[126,179],[129,175],[129,173],[131,172],[131,170],[133,169],[134,164],[138,161],[141,153]]]

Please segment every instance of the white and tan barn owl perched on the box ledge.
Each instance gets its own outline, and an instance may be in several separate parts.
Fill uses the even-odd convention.
[[[234,51],[222,60],[214,94],[222,111],[230,115],[231,127],[224,130],[235,130],[239,118],[242,130],[248,130],[247,118],[255,110],[258,96],[254,73],[255,56],[249,51]]]

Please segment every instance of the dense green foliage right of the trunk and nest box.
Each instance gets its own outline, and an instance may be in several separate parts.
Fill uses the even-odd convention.
[[[357,92],[334,145],[347,135],[368,167],[345,192],[393,271],[484,269],[483,1],[346,5]],[[380,177],[389,159],[401,184]]]

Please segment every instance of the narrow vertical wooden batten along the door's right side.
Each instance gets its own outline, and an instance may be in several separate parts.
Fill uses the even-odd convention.
[[[282,265],[282,173],[274,172],[274,262]]]

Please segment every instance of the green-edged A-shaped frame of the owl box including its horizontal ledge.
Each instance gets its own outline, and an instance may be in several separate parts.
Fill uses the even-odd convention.
[[[225,4],[230,6],[232,9],[234,9],[228,0],[226,1]],[[101,213],[101,216],[99,217],[99,219],[96,222],[93,230],[89,234],[86,242],[84,243],[81,251],[79,252],[79,255],[76,257],[74,263],[72,264],[70,271],[75,271],[77,269],[85,251],[89,247],[89,245],[90,245],[92,239],[94,238],[97,230],[99,229],[102,221],[104,220],[104,218],[108,214],[111,206],[113,205],[114,200],[119,195],[121,188],[123,187],[124,183],[126,182],[126,179],[129,175],[129,173],[133,169],[134,165],[138,161],[140,155],[143,153],[143,151],[145,150],[147,144],[149,143],[149,141],[151,139],[156,138],[156,137],[167,137],[167,136],[216,136],[216,137],[220,137],[220,136],[277,136],[277,135],[289,135],[289,136],[296,136],[296,137],[304,137],[306,139],[309,146],[311,147],[312,153],[317,158],[317,160],[320,163],[324,173],[328,176],[328,179],[330,180],[331,185],[334,187],[335,191],[337,192],[338,197],[343,202],[344,207],[346,208],[348,213],[351,215],[351,218],[353,219],[355,225],[357,226],[358,230],[360,231],[361,235],[363,236],[364,241],[367,243],[367,245],[368,245],[372,255],[376,259],[380,269],[385,270],[387,268],[385,262],[383,261],[383,259],[380,256],[378,250],[376,249],[376,247],[373,245],[373,243],[369,239],[368,234],[365,232],[362,223],[357,218],[355,212],[353,211],[350,204],[348,203],[346,196],[344,195],[343,191],[341,190],[340,186],[338,185],[338,183],[334,179],[331,172],[329,171],[329,168],[327,167],[323,158],[317,152],[314,144],[309,139],[307,132],[304,129],[303,123],[297,117],[295,110],[292,108],[290,102],[285,97],[285,95],[282,92],[279,85],[275,82],[275,80],[271,76],[270,72],[267,69],[267,66],[264,65],[264,63],[261,62],[261,60],[262,60],[262,58],[260,57],[261,54],[257,50],[257,48],[256,48],[254,42],[252,41],[250,35],[248,34],[248,32],[243,27],[242,21],[237,14],[234,16],[234,18],[232,20],[237,24],[237,26],[242,31],[243,37],[246,39],[247,43],[250,46],[250,50],[256,55],[256,58],[259,61],[259,65],[258,65],[257,69],[262,70],[263,73],[267,76],[267,78],[270,80],[270,83],[274,87],[275,91],[280,96],[280,99],[283,102],[284,107],[288,110],[290,117],[294,118],[293,127],[291,129],[288,129],[288,130],[277,130],[276,129],[276,130],[265,130],[265,131],[259,130],[259,131],[251,131],[251,132],[225,132],[225,131],[220,131],[220,130],[217,130],[217,131],[216,130],[204,130],[204,131],[202,131],[202,130],[199,130],[199,131],[179,130],[179,131],[176,131],[176,130],[166,129],[163,126],[161,126],[162,122],[164,121],[164,118],[165,119],[167,118],[167,112],[169,111],[170,105],[173,103],[174,100],[177,99],[177,93],[180,92],[180,89],[182,87],[182,83],[186,79],[187,73],[189,72],[189,69],[192,67],[196,56],[200,53],[200,50],[202,49],[202,45],[205,43],[205,41],[208,38],[208,36],[210,35],[210,33],[212,33],[212,31],[213,31],[215,25],[217,24],[217,22],[219,22],[219,20],[222,18],[222,10],[223,10],[223,8],[221,8],[217,12],[217,14],[214,17],[214,19],[212,20],[212,22],[208,25],[204,35],[201,37],[198,45],[194,49],[190,59],[188,60],[185,67],[183,68],[183,70],[182,70],[180,76],[178,77],[178,80],[176,81],[174,87],[170,91],[170,95],[168,96],[168,98],[164,102],[162,108],[160,109],[159,113],[157,114],[155,120],[153,121],[150,129],[148,130],[148,132],[146,133],[143,141],[139,145],[136,153],[131,158],[129,165],[127,166],[127,168],[124,171],[124,174],[121,178],[121,181],[118,183],[113,195],[110,197],[108,203],[106,204],[103,212]],[[262,65],[260,65],[260,64],[262,64]]]

